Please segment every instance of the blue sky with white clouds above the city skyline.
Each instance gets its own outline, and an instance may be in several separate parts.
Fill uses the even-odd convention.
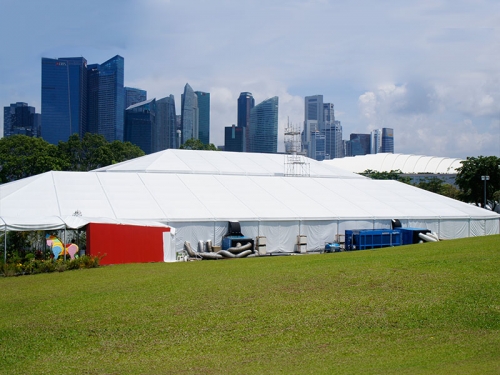
[[[41,58],[125,59],[148,99],[210,92],[224,143],[240,92],[279,97],[279,145],[304,97],[343,139],[394,129],[394,152],[500,157],[498,0],[0,0],[0,105],[41,109]],[[0,119],[3,129],[3,116]]]

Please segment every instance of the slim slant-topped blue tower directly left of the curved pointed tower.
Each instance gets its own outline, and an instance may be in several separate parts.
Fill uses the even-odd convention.
[[[156,131],[153,139],[154,152],[177,148],[177,116],[173,95],[156,101]]]

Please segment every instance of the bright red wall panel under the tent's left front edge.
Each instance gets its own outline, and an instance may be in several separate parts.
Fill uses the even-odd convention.
[[[163,262],[166,227],[90,223],[87,255],[104,255],[100,264]]]

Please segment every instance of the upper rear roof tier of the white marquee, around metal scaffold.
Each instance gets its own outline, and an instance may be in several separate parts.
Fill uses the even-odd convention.
[[[284,176],[288,155],[168,149],[96,169],[95,172],[145,172]],[[365,178],[337,166],[304,157],[310,177]]]

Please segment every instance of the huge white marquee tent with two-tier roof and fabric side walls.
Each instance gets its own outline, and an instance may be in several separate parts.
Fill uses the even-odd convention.
[[[444,239],[500,233],[494,212],[311,159],[309,176],[285,176],[286,158],[166,150],[92,172],[47,172],[0,186],[0,225],[163,223],[180,250],[186,240],[220,245],[228,221],[239,221],[245,236],[266,236],[268,252],[294,251],[297,235],[321,249],[346,229],[389,228],[391,219]]]

